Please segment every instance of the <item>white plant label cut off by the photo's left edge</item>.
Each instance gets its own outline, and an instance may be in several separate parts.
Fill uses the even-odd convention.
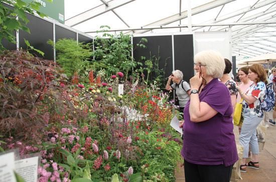
[[[15,152],[0,155],[0,182],[16,182]]]

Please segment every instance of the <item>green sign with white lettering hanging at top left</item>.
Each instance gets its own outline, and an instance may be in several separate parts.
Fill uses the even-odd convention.
[[[40,12],[43,12],[47,16],[64,23],[64,0],[23,0],[27,3],[36,1],[41,4]]]

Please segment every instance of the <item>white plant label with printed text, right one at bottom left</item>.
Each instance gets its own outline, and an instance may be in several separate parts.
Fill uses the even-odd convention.
[[[37,182],[38,156],[16,160],[15,164],[16,172],[26,182]]]

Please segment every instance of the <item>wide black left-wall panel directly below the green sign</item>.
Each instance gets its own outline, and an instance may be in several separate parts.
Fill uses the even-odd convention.
[[[53,23],[46,21],[40,17],[27,13],[29,22],[27,24],[30,29],[30,33],[19,30],[19,46],[23,49],[27,49],[27,45],[24,38],[30,42],[32,46],[44,52],[45,59],[54,59],[54,50],[51,45],[47,43],[49,39],[53,40]],[[30,50],[38,57],[42,57],[41,54]]]

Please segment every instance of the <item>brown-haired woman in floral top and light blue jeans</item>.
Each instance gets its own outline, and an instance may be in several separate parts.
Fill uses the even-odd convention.
[[[245,93],[238,87],[242,102],[242,116],[244,118],[239,142],[243,146],[243,157],[241,160],[240,171],[246,172],[246,167],[259,168],[259,146],[256,136],[256,128],[263,117],[263,111],[260,109],[260,103],[265,95],[265,84],[267,83],[266,73],[261,64],[253,64],[248,67],[248,77],[253,84]],[[252,159],[245,164],[248,158],[249,144],[252,151]]]

